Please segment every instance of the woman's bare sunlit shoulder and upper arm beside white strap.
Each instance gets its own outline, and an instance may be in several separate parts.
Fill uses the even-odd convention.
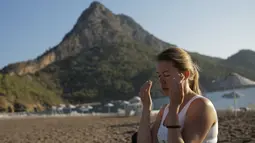
[[[217,114],[212,102],[207,98],[197,98],[187,111],[184,122],[185,142],[202,142],[210,128],[216,123]]]

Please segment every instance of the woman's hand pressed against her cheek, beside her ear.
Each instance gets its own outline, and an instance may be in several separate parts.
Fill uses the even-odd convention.
[[[171,106],[180,106],[184,99],[184,79],[182,75],[177,75],[174,78],[169,78],[167,81],[169,84],[169,95]]]

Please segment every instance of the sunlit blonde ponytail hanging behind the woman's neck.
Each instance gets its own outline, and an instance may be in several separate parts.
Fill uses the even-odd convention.
[[[190,88],[193,92],[195,92],[198,95],[201,95],[201,90],[199,87],[199,73],[198,73],[198,67],[197,65],[193,64],[193,78],[190,81]]]

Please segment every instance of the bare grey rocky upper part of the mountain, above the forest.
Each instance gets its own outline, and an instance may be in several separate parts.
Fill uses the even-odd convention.
[[[115,15],[101,3],[94,1],[82,12],[73,29],[57,46],[35,60],[10,64],[2,71],[18,75],[35,73],[51,63],[75,56],[83,49],[130,41],[141,42],[157,50],[174,46],[151,35],[132,18],[123,14]]]

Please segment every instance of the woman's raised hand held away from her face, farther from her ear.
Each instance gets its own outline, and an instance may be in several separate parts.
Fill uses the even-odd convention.
[[[152,81],[146,81],[143,86],[140,89],[139,96],[141,98],[141,101],[143,103],[143,110],[151,110],[151,86]]]

